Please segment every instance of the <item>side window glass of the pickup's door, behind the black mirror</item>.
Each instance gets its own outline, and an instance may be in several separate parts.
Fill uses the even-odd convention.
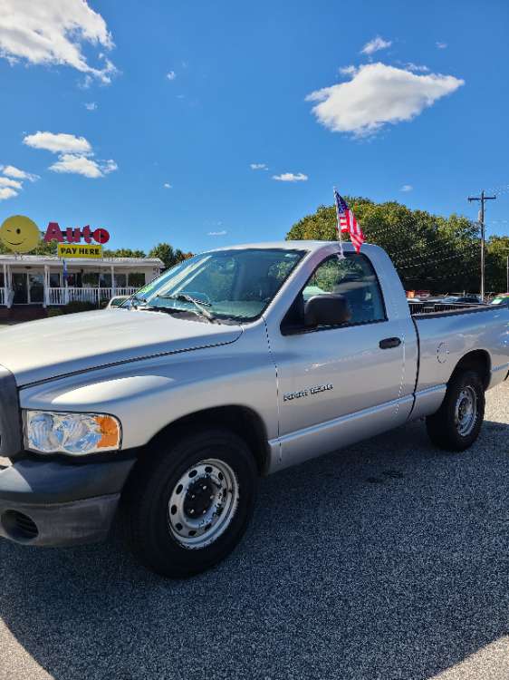
[[[345,257],[328,257],[309,278],[300,296],[288,311],[283,325],[295,329],[299,316],[303,325],[303,309],[312,296],[341,295],[346,297],[351,308],[351,322],[370,324],[385,321],[385,306],[379,281],[370,260],[361,254],[347,253]]]

